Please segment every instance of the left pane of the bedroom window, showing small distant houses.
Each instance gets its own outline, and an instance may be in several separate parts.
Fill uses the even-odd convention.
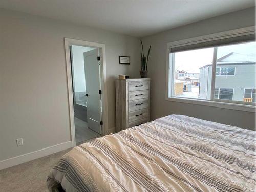
[[[212,70],[207,66],[212,63],[213,53],[214,48],[170,53],[169,65],[174,71],[173,88],[169,88],[173,89],[172,96],[210,99]]]

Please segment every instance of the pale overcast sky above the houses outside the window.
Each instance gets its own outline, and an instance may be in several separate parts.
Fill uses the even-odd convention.
[[[175,70],[199,73],[200,67],[212,63],[213,52],[214,48],[177,52],[175,53]],[[217,59],[231,52],[249,55],[256,60],[256,42],[220,46],[217,51]]]

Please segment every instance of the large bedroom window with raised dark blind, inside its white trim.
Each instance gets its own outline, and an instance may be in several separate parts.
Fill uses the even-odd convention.
[[[167,100],[255,105],[255,34],[230,39],[188,39],[168,44]],[[178,79],[181,74],[175,76],[175,71],[186,71],[188,78],[183,74],[183,79]]]

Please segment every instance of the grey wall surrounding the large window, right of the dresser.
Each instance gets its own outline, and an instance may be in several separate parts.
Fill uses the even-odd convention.
[[[165,100],[166,44],[168,42],[253,25],[255,25],[255,7],[142,38],[145,49],[152,45],[148,62],[148,75],[151,78],[151,120],[169,114],[184,114],[254,130],[255,113]]]

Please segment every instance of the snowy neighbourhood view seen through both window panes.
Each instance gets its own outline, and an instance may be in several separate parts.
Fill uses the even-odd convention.
[[[255,53],[255,42],[218,47],[215,99],[255,102]],[[213,48],[174,54],[174,96],[210,99]]]

